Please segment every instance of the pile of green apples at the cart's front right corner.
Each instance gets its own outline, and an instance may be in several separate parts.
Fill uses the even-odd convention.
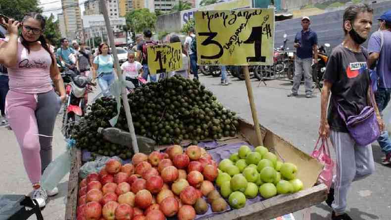
[[[303,188],[301,180],[296,178],[296,165],[278,161],[277,156],[263,146],[251,151],[242,145],[238,153],[222,160],[218,168],[216,184],[234,209],[244,207],[246,198],[255,198],[258,192],[267,199]]]

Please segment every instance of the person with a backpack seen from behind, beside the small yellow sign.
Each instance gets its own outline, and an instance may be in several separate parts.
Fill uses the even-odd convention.
[[[150,30],[144,31],[144,41],[140,42],[137,46],[137,61],[143,64],[143,78],[148,80],[148,75],[151,82],[156,82],[156,74],[150,74],[148,68],[148,54],[147,47],[151,45],[156,45],[154,41],[150,38],[152,37],[152,32]]]

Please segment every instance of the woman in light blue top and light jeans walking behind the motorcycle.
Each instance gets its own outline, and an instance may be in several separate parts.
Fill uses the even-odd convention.
[[[98,84],[103,96],[110,96],[110,85],[114,82],[114,58],[108,52],[107,43],[98,47],[98,55],[94,59],[94,76],[98,75]]]

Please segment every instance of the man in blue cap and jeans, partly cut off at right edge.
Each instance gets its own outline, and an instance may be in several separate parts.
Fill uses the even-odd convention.
[[[376,67],[378,90],[375,100],[380,111],[390,102],[391,94],[391,10],[386,11],[379,20],[379,30],[372,34],[368,42],[368,66]],[[391,140],[388,131],[382,132],[378,139],[382,151],[386,154],[383,165],[391,164]]]

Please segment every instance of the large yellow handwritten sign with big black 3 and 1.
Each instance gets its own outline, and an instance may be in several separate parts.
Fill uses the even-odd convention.
[[[271,65],[274,9],[197,11],[199,65]]]

